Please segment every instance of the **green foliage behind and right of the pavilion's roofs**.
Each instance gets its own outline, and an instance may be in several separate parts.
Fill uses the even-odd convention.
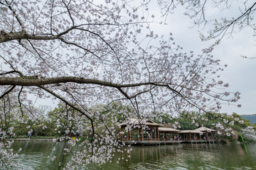
[[[254,139],[256,126],[249,120],[243,119],[241,115],[233,113],[181,113],[177,118],[170,117],[169,114],[160,115],[159,123],[166,127],[180,130],[195,130],[201,126],[218,130],[215,136],[224,142],[238,140],[238,132],[242,134],[245,140]],[[157,120],[156,120],[157,121]],[[250,136],[250,137],[249,137]]]

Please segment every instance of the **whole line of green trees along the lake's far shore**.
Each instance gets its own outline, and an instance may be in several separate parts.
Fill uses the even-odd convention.
[[[95,106],[94,108],[90,108],[90,110],[97,108],[100,109],[105,107]],[[70,114],[66,114],[67,112],[75,113],[76,111],[72,108],[66,108],[65,105],[58,104],[58,106],[52,111],[42,112],[44,112],[44,114],[41,116],[41,118],[37,120],[31,120],[25,115],[23,117],[23,121],[1,120],[1,130],[2,132],[4,132],[5,130],[8,130],[9,127],[14,127],[13,131],[15,135],[12,136],[13,138],[28,137],[29,134],[31,134],[31,137],[46,138],[58,138],[63,137],[63,135],[67,134],[70,137],[78,135],[81,137],[86,137],[90,135],[90,130],[87,130],[86,128],[87,123],[84,123],[83,125],[76,125],[75,118],[73,118],[72,116],[70,117]],[[127,120],[127,117],[125,117],[125,115],[127,114],[122,114],[123,112],[128,112],[131,113],[131,115],[134,115],[134,111],[132,108],[117,103],[112,103],[111,107],[108,106],[105,110],[102,109],[102,111],[100,111],[100,114],[102,116],[96,121],[104,121],[105,127],[98,128],[97,130],[95,130],[95,133],[100,135],[101,133],[109,130],[107,129],[107,127],[112,123],[112,118],[117,118],[117,122],[123,123],[124,120]],[[171,116],[169,115],[169,113],[155,113],[155,115],[156,117],[153,119],[153,121],[155,123],[161,123],[166,128],[176,128],[178,130],[195,130],[196,128],[204,126],[206,128],[215,129],[215,138],[218,139],[218,141],[238,141],[241,140],[241,135],[247,141],[253,141],[256,139],[256,123],[252,125],[249,120],[242,118],[241,115],[238,115],[236,113],[228,115],[226,113],[201,114],[195,112],[183,112],[178,117]],[[9,118],[10,117],[12,117],[12,115],[10,115]],[[67,127],[67,125],[71,126]],[[119,125],[116,125],[115,127],[115,134],[118,138]],[[66,130],[69,130],[69,132],[67,133]],[[248,135],[248,133],[250,134]]]

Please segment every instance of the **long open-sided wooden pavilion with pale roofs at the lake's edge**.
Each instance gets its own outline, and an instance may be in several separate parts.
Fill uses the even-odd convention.
[[[176,130],[162,128],[163,125],[152,120],[131,118],[119,125],[120,140],[127,144],[156,145],[180,142],[215,142],[210,128],[201,127],[196,130]]]

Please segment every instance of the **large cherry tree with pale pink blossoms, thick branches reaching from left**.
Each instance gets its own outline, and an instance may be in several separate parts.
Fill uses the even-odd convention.
[[[86,149],[73,155],[79,165],[104,163],[119,151],[117,119],[107,120],[100,114],[104,107],[94,106],[119,102],[134,109],[123,112],[127,117],[153,118],[218,111],[221,103],[238,100],[239,93],[223,91],[228,84],[218,72],[225,66],[210,54],[213,49],[184,52],[171,33],[154,33],[148,4],[134,6],[136,1],[0,1],[1,118],[15,106],[9,122],[24,121],[24,114],[36,121],[29,96],[65,104],[57,114],[65,115],[66,134],[74,121],[90,132]],[[95,133],[101,127],[106,132]],[[67,147],[76,143],[67,136],[60,140],[68,140]]]

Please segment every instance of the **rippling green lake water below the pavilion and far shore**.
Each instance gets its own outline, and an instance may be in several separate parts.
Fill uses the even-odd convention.
[[[15,142],[22,151],[16,159],[30,169],[58,169],[62,142]],[[50,155],[48,158],[47,156]],[[55,162],[51,157],[57,157]],[[123,158],[123,159],[122,159]],[[118,162],[118,163],[117,163]],[[115,154],[112,163],[90,164],[81,169],[256,169],[256,144],[180,144],[132,147],[130,154]]]

